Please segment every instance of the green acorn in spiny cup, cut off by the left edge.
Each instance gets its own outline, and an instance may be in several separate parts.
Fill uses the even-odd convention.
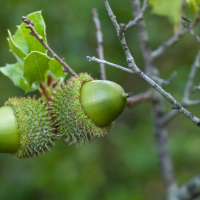
[[[0,108],[0,152],[17,158],[44,154],[54,146],[54,129],[45,103],[35,98],[10,98]]]

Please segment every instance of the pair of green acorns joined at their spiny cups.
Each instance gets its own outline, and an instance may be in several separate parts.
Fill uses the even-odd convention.
[[[87,73],[69,79],[50,102],[10,98],[0,108],[0,153],[17,158],[44,154],[57,139],[80,145],[108,133],[126,105],[126,93]]]

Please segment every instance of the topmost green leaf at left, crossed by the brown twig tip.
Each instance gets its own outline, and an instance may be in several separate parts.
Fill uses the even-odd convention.
[[[34,22],[34,29],[36,32],[43,37],[44,42],[47,42],[46,39],[46,25],[42,17],[41,11],[33,12],[27,15],[27,18]],[[28,42],[29,52],[30,51],[39,51],[46,53],[46,49],[40,44],[36,37],[30,35],[30,29],[25,28],[25,23],[20,25],[20,29],[23,33],[23,36]],[[19,34],[19,33],[18,33]]]

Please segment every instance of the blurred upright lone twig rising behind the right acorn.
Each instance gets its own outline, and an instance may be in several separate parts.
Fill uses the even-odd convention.
[[[103,53],[103,34],[101,31],[101,23],[98,17],[97,9],[92,10],[93,13],[93,20],[96,27],[96,37],[97,37],[97,52],[99,55],[99,59],[104,60],[104,53]],[[106,80],[106,72],[105,72],[105,65],[100,63],[100,75],[102,80]]]

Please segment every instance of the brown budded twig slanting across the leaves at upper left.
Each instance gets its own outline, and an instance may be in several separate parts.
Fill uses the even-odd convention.
[[[37,40],[42,44],[42,46],[64,67],[65,71],[72,76],[77,76],[77,74],[67,65],[67,63],[61,59],[45,42],[42,36],[38,35],[36,30],[33,28],[34,22],[27,17],[22,17],[22,21],[26,23],[26,28],[31,30],[30,34],[37,38]]]

